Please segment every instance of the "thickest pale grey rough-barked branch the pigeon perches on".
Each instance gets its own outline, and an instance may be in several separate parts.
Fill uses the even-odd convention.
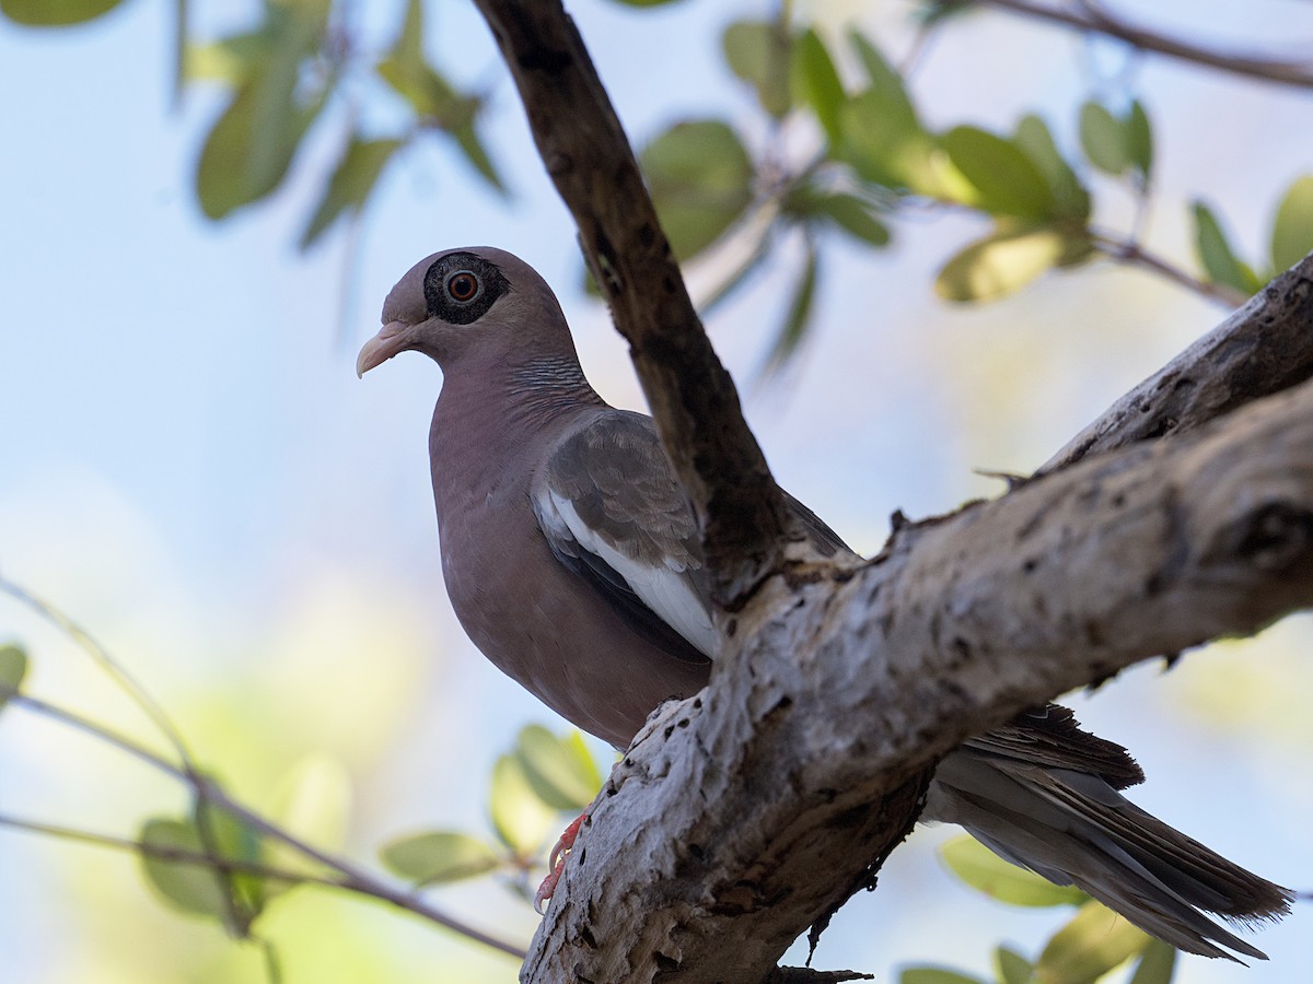
[[[771,579],[608,783],[525,979],[765,980],[962,740],[1313,604],[1313,383]],[[737,659],[735,659],[737,657]],[[691,795],[692,791],[692,795]]]

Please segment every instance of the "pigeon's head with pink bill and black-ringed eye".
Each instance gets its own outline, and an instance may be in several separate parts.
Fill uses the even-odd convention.
[[[356,374],[415,349],[449,366],[470,352],[506,358],[559,345],[569,329],[546,282],[511,253],[470,247],[433,253],[397,281],[383,327],[356,358]]]

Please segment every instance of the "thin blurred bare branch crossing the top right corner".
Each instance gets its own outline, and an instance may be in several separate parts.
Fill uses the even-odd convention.
[[[968,0],[976,7],[989,7],[997,10],[1031,17],[1033,20],[1061,24],[1082,31],[1104,34],[1124,41],[1141,51],[1153,51],[1183,62],[1191,62],[1207,68],[1232,72],[1247,79],[1313,88],[1313,62],[1287,62],[1257,54],[1218,51],[1200,45],[1192,45],[1178,38],[1140,28],[1103,9],[1092,1],[1069,5],[1039,3],[1037,0]]]

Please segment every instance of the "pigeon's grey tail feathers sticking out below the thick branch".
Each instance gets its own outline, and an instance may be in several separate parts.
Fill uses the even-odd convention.
[[[1279,918],[1291,911],[1288,890],[1140,810],[1117,792],[1115,786],[1125,783],[999,754],[991,736],[940,764],[926,820],[965,827],[999,857],[1056,884],[1075,884],[1180,950],[1237,959],[1228,953],[1234,950],[1267,959],[1204,912],[1246,925]]]

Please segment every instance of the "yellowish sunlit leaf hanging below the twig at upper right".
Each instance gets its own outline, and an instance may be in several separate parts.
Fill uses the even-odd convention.
[[[935,293],[945,300],[958,302],[1006,297],[1057,265],[1071,241],[1050,227],[995,232],[944,264],[935,278]],[[999,859],[999,863],[1007,862]]]

